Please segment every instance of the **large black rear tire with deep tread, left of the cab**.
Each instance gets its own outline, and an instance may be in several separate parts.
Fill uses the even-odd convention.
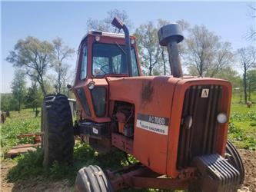
[[[74,130],[68,98],[63,94],[45,96],[42,107],[43,166],[54,161],[71,164],[73,159]]]

